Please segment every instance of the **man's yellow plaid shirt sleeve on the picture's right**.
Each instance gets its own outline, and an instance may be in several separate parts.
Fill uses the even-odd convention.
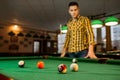
[[[86,27],[86,30],[87,30],[87,36],[88,36],[89,45],[94,45],[95,41],[94,41],[93,29],[91,27],[90,20],[87,17],[85,18],[85,24],[86,24],[85,27]]]

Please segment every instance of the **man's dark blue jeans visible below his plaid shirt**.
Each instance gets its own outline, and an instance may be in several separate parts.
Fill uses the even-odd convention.
[[[79,52],[72,52],[68,53],[71,58],[84,58],[88,53],[88,49],[79,51]]]

